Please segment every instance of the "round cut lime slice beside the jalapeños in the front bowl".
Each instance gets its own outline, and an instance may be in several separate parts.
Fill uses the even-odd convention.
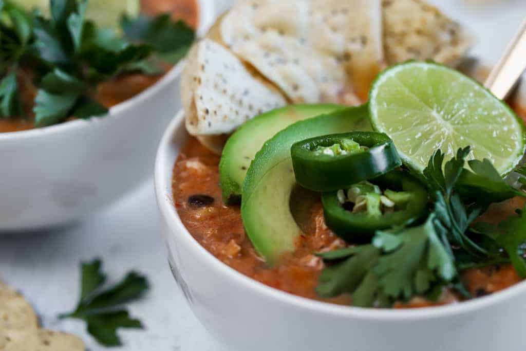
[[[480,84],[438,64],[387,69],[372,86],[369,108],[373,128],[393,139],[414,171],[422,172],[437,149],[449,159],[471,146],[469,158],[488,158],[501,174],[524,154],[522,120]]]

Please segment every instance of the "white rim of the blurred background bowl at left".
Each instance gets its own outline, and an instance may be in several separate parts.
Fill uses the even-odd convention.
[[[199,25],[196,31],[197,38],[203,36],[208,31],[208,28],[213,24],[215,19],[215,4],[214,1],[209,0],[196,0],[198,5],[199,13]],[[151,96],[156,95],[158,92],[163,91],[166,86],[169,84],[174,84],[185,67],[186,59],[181,59],[175,66],[171,67],[168,72],[166,72],[163,77],[159,79],[155,84],[149,86],[144,91],[119,103],[115,106],[109,108],[107,114],[102,116],[93,116],[86,119],[75,119],[74,121],[63,122],[59,124],[54,124],[47,127],[41,128],[32,128],[25,131],[16,131],[16,132],[6,132],[0,133],[0,143],[3,141],[13,141],[13,140],[24,140],[32,139],[40,136],[55,135],[62,132],[67,132],[73,129],[88,128],[93,126],[95,123],[118,119],[126,118],[126,111],[134,109],[137,105],[144,103],[150,99]]]

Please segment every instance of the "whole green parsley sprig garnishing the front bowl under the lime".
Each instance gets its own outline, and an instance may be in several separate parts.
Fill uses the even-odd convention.
[[[526,215],[473,225],[491,203],[526,195],[489,160],[467,161],[470,155],[470,147],[459,149],[444,164],[440,150],[433,154],[423,171],[431,195],[423,224],[379,230],[370,244],[319,254],[327,266],[318,294],[347,293],[356,306],[387,307],[415,296],[436,299],[444,287],[469,297],[459,278],[467,267],[511,262],[526,278]]]

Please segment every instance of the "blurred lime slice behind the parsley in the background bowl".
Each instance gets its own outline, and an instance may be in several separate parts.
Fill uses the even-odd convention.
[[[49,0],[15,0],[16,4],[26,8],[38,8],[48,16]],[[140,12],[140,0],[89,0],[86,17],[92,19],[99,27],[120,31],[119,19],[123,14],[136,17]]]

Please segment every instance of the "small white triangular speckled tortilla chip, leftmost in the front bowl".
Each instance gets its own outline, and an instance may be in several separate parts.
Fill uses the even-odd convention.
[[[252,77],[236,56],[210,39],[195,44],[187,62],[181,95],[190,134],[228,134],[255,115],[287,103]]]

